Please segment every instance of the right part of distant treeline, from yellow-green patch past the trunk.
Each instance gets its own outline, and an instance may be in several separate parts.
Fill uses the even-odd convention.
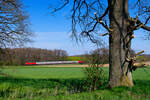
[[[136,52],[131,49],[131,57],[136,56]],[[108,48],[99,48],[95,49],[87,54],[69,56],[70,60],[81,60],[85,63],[99,63],[99,64],[108,64],[109,63],[109,49]],[[150,61],[150,54],[141,54],[137,56],[136,62],[145,62]]]

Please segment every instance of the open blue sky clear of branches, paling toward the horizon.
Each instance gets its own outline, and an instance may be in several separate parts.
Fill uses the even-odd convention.
[[[94,50],[96,46],[88,41],[77,44],[70,38],[71,20],[67,18],[68,9],[50,14],[48,9],[51,2],[56,0],[23,0],[25,10],[30,16],[31,30],[35,36],[32,37],[33,43],[27,47],[44,49],[63,49],[69,55],[87,53]],[[132,42],[135,51],[145,50],[150,54],[149,41],[141,37],[143,32],[137,31],[136,38]],[[107,39],[106,39],[107,41]]]

